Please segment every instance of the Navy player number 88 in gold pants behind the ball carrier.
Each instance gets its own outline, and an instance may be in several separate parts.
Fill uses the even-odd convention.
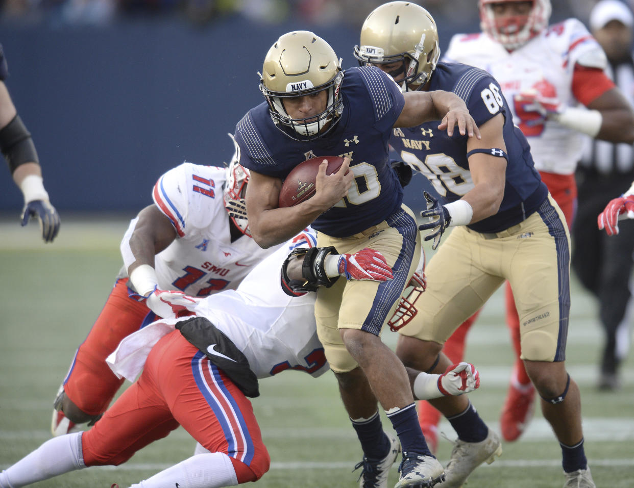
[[[417,303],[424,313],[399,330],[399,358],[421,371],[443,370],[451,364],[441,352],[443,344],[508,280],[521,325],[520,357],[559,441],[564,487],[594,488],[583,447],[579,388],[565,363],[570,235],[564,212],[534,167],[526,137],[514,126],[500,84],[474,66],[438,63],[436,23],[413,3],[375,9],[363,23],[359,44],[359,61],[389,73],[404,92],[459,94],[482,134],[479,140],[450,138],[424,123],[394,129],[390,139],[402,160],[423,173],[441,196],[427,196],[428,208],[421,213],[426,222],[420,226],[429,230],[425,240],[434,239],[435,249],[446,228],[454,227],[427,267],[427,291]],[[581,116],[570,116],[581,122]],[[595,118],[586,119],[586,125]],[[466,396],[432,403],[458,433],[439,487],[459,488],[478,465],[501,453],[500,438]]]

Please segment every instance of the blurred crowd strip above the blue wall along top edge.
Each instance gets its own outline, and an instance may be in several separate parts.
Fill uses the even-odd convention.
[[[372,0],[4,0],[3,23],[49,25],[108,25],[129,18],[174,17],[210,27],[228,16],[253,22],[280,23],[291,18],[314,25],[359,25],[382,2]],[[470,25],[477,0],[425,0],[437,22]],[[594,0],[553,0],[553,17],[585,19]]]

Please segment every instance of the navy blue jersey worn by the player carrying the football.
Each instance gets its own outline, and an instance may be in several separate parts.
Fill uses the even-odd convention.
[[[266,103],[250,109],[235,132],[240,164],[282,180],[309,158],[351,158],[355,178],[348,196],[311,224],[333,237],[346,237],[377,225],[403,201],[403,189],[388,161],[392,126],[404,106],[399,87],[378,68],[355,67],[346,70],[340,93],[344,109],[339,123],[314,141],[294,141],[281,132]]]

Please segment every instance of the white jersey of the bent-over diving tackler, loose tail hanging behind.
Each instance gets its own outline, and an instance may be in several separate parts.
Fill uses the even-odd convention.
[[[314,377],[328,371],[314,318],[316,293],[291,297],[280,284],[281,265],[290,251],[316,243],[314,231],[304,230],[259,263],[237,290],[205,297],[195,308],[196,315],[210,320],[242,351],[258,378],[285,370]],[[161,319],[128,335],[108,356],[113,372],[133,381],[152,346],[188,318]]]

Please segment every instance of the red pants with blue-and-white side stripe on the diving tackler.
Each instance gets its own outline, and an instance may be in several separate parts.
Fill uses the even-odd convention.
[[[227,454],[238,482],[268,471],[249,399],[178,330],[157,342],[141,377],[82,434],[84,463],[120,465],[179,425],[205,449]]]

